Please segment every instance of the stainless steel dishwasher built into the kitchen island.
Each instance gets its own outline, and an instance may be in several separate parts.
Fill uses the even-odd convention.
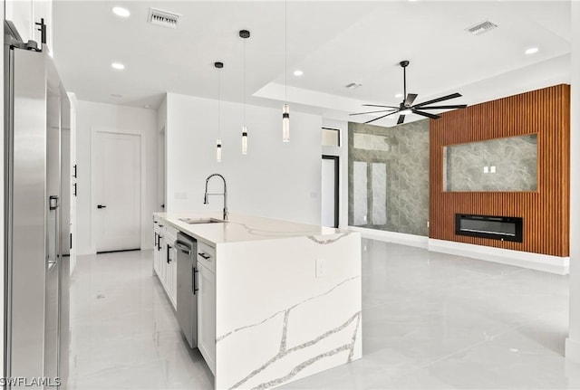
[[[198,288],[196,281],[198,243],[189,235],[178,232],[174,243],[178,251],[177,312],[179,327],[188,339],[189,347],[198,347]]]

